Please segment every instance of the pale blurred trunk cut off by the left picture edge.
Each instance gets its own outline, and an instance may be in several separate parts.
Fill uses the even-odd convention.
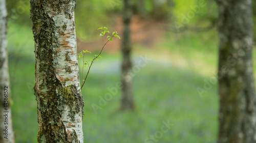
[[[7,52],[7,10],[6,1],[0,0],[0,142],[13,143],[12,112],[10,98],[10,77]]]

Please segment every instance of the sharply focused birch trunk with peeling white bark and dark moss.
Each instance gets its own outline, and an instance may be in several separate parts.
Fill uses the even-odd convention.
[[[38,142],[83,142],[76,1],[31,0]]]

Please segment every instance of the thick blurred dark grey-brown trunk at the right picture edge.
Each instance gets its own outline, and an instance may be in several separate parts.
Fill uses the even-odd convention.
[[[251,0],[218,0],[217,3],[220,37],[218,143],[256,142]]]

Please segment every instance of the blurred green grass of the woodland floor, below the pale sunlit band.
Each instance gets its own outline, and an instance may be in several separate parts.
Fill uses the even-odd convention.
[[[107,56],[107,55],[105,55]],[[108,59],[108,58],[106,58]],[[104,59],[105,60],[105,59]],[[102,60],[103,61],[103,60]],[[10,60],[14,65],[15,59]],[[174,126],[158,142],[214,142],[217,131],[216,85],[203,97],[196,88],[204,84],[200,75],[172,67],[158,67],[152,62],[134,77],[136,112],[118,112],[121,91],[95,114],[91,104],[98,104],[99,96],[115,87],[119,74],[91,73],[82,90],[85,106],[83,132],[87,142],[143,142],[160,130],[163,121]],[[12,74],[13,126],[17,142],[36,142],[36,101],[34,61],[20,59],[10,66]],[[102,72],[103,73],[103,72]],[[29,130],[28,130],[29,129]]]

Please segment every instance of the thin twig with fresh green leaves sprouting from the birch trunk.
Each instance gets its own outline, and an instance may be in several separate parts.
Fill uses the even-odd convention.
[[[103,37],[104,37],[104,35],[105,35],[106,33],[110,33],[110,31],[108,31],[108,28],[107,28],[107,27],[99,27],[98,30],[102,30],[102,32],[99,34],[99,36],[102,37],[102,48],[101,48],[99,54],[95,54],[94,57],[91,58],[89,61],[84,61],[84,55],[85,55],[87,52],[90,52],[90,51],[88,51],[88,50],[82,50],[80,53],[78,53],[78,58],[81,58],[81,57],[83,58],[83,64],[82,64],[82,66],[81,66],[81,68],[82,68],[82,84],[81,84],[81,89],[82,89],[84,83],[86,82],[86,79],[87,79],[87,76],[88,76],[88,74],[89,74],[89,72],[90,72],[90,69],[91,69],[91,67],[92,67],[92,64],[95,62],[95,60],[97,60],[97,61],[99,60],[98,57],[101,58],[101,55],[100,55],[100,54],[101,54],[103,48],[105,47],[105,45],[106,45],[109,41],[112,41],[112,40],[113,40],[113,37],[117,37],[117,38],[120,39],[120,37],[117,35],[118,33],[115,31],[115,32],[112,33],[112,36],[107,36],[107,37],[106,37],[106,39],[108,39],[108,41],[106,41],[105,44],[104,44],[104,39],[103,39]],[[90,53],[92,53],[92,52],[90,52]],[[86,77],[83,79],[83,68],[86,68],[87,66],[89,67],[89,69],[88,69],[88,72],[87,72]]]

